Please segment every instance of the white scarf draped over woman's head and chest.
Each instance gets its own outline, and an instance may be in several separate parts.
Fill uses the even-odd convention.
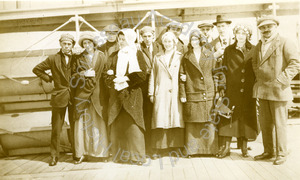
[[[123,47],[118,53],[116,76],[123,77],[128,73],[141,72],[136,52],[137,48],[135,46],[136,33],[133,29],[122,29],[121,32],[125,36],[125,40],[128,46]]]

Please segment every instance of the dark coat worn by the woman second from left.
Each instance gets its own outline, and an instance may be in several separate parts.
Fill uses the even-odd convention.
[[[106,58],[101,51],[95,51],[93,62],[90,63],[87,53],[84,51],[76,58],[77,72],[72,75],[71,83],[76,84],[74,93],[74,106],[76,112],[74,112],[75,120],[79,120],[80,115],[84,112],[90,103],[94,106],[97,114],[103,119],[107,120],[106,116],[106,104],[108,101],[108,93],[102,73],[106,64]],[[95,77],[84,77],[80,75],[81,72],[93,68]]]

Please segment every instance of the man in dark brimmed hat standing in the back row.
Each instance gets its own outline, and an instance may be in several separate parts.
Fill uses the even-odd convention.
[[[216,22],[213,23],[217,27],[219,36],[211,42],[211,45],[215,50],[214,57],[219,61],[222,60],[225,48],[235,41],[230,29],[231,22],[224,15],[217,15]]]

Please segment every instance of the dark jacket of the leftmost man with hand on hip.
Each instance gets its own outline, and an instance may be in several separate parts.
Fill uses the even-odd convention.
[[[46,82],[54,81],[50,105],[52,107],[66,107],[71,100],[70,78],[72,73],[74,58],[70,56],[68,65],[64,54],[59,51],[50,55],[46,60],[36,65],[32,72]],[[52,76],[45,71],[51,70]]]

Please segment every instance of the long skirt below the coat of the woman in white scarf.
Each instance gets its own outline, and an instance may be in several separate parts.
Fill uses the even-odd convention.
[[[110,131],[113,161],[145,162],[144,131],[123,108],[111,124]]]

